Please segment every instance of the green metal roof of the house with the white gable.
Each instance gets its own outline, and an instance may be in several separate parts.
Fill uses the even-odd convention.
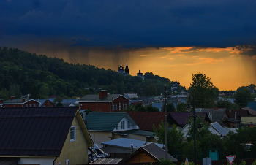
[[[125,116],[130,118],[127,112],[90,112],[86,115],[86,127],[88,130],[113,131]]]

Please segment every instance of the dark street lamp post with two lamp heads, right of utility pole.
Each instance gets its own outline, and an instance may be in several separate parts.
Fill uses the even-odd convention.
[[[193,97],[192,97],[192,102],[193,102],[193,107],[191,107],[190,104],[187,104],[187,111],[190,112],[191,109],[193,109],[194,164],[196,165],[197,164],[197,146],[196,146],[196,142],[195,142],[195,139],[196,139],[195,138],[195,119],[197,118],[197,116],[195,115],[195,99]],[[197,126],[198,131],[202,131],[202,128],[203,128],[202,124],[198,124],[198,126]]]

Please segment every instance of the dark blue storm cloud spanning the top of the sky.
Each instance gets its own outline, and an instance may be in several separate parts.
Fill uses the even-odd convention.
[[[5,0],[0,37],[6,40],[0,38],[0,45],[21,35],[73,46],[255,45],[255,9],[254,0]]]

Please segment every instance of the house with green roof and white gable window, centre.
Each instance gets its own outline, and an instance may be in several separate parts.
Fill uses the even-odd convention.
[[[127,112],[89,112],[85,123],[97,144],[121,137],[119,131],[139,129]]]

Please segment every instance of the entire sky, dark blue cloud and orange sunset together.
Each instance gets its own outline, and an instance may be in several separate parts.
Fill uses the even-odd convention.
[[[203,73],[219,90],[256,85],[255,0],[2,0],[0,47],[189,88]]]

